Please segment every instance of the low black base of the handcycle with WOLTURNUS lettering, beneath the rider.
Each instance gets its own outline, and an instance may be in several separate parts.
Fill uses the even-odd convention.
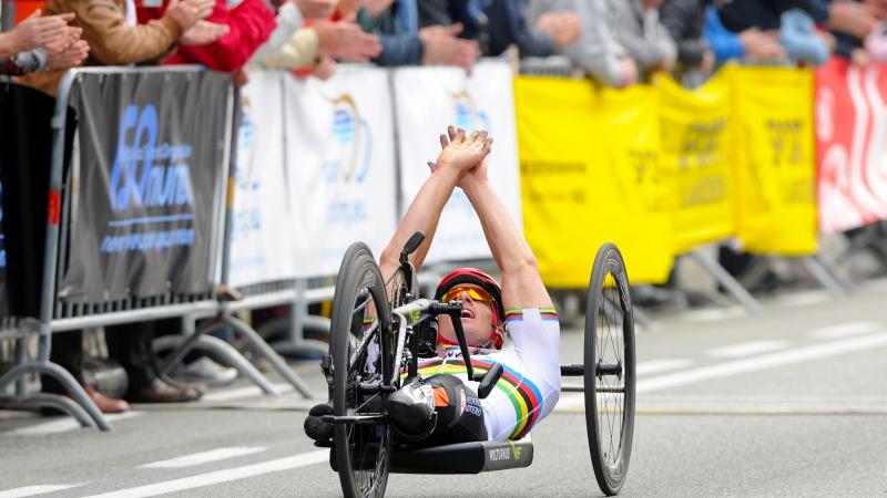
[[[529,467],[533,461],[529,436],[521,440],[394,448],[391,453],[391,473],[400,474],[478,474]]]

